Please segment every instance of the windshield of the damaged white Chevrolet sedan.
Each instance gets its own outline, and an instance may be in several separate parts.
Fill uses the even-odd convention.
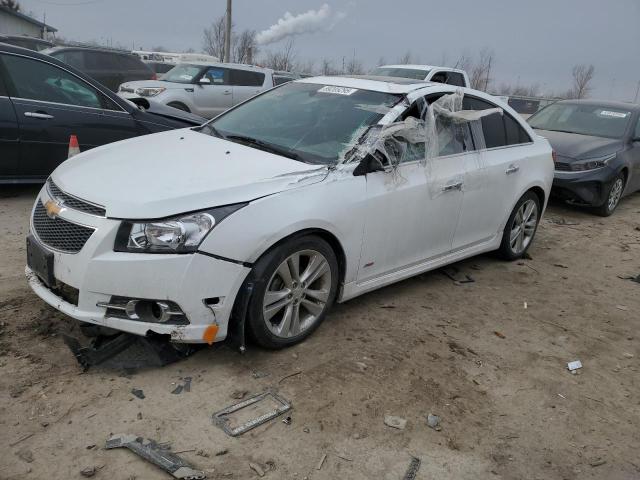
[[[305,163],[332,165],[401,98],[356,88],[288,83],[199,131]]]

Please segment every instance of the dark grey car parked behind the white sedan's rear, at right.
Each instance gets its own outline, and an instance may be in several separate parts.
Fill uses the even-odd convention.
[[[556,153],[556,197],[606,217],[640,190],[640,105],[562,100],[527,121]]]

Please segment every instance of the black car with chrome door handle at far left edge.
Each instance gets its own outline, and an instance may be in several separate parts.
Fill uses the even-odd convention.
[[[205,122],[140,102],[118,97],[52,57],[0,44],[0,183],[44,181],[67,158],[70,135],[87,150]]]

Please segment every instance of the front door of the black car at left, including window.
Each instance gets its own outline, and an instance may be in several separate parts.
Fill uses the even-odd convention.
[[[20,125],[16,175],[49,175],[67,158],[70,135],[86,150],[140,133],[128,112],[68,70],[22,55],[0,57]]]

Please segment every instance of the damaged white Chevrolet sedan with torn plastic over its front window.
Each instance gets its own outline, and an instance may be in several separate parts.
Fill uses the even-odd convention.
[[[183,343],[246,324],[279,348],[336,301],[482,252],[520,258],[552,180],[547,141],[495,97],[309,78],[64,162],[33,207],[26,274],[86,324]]]

